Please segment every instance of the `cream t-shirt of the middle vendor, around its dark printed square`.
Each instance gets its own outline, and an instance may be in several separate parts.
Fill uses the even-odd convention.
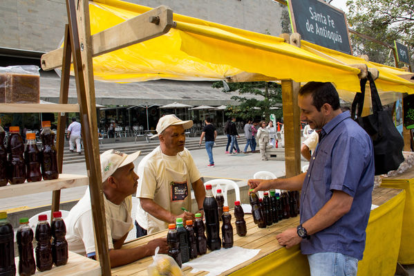
[[[173,179],[171,179],[169,172],[166,172],[166,166],[176,172],[188,173],[190,183],[188,183],[188,197],[185,201],[171,202],[170,192]],[[167,156],[162,154],[160,146],[158,146],[142,158],[137,171],[140,176],[136,195],[138,199],[140,197],[153,199],[155,203],[173,214],[181,214],[180,207],[191,212],[191,183],[198,181],[201,175],[188,149],[185,148],[176,156]],[[147,229],[148,234],[168,228],[168,223],[145,212],[140,203],[137,205],[135,219],[142,228]]]

